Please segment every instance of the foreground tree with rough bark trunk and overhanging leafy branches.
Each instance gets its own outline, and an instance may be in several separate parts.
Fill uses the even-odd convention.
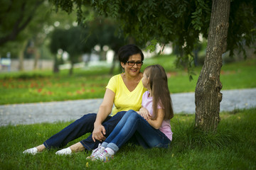
[[[82,5],[88,5],[87,1],[80,0],[61,1],[61,3],[52,0],[52,2],[67,12],[73,11],[73,6],[76,6],[78,16],[82,16]],[[164,45],[171,41],[181,54],[178,60],[186,61],[188,68],[193,62],[191,52],[199,34],[204,38],[211,36],[207,47],[209,57],[204,61],[204,69],[196,86],[196,126],[206,131],[217,128],[222,88],[219,77],[222,59],[219,55],[226,50],[230,50],[232,54],[234,49],[243,50],[244,44],[252,45],[252,42],[255,42],[256,1],[235,0],[230,3],[229,0],[95,0],[92,1],[91,6],[102,15],[116,18],[121,23],[124,33],[132,35],[141,42],[160,42]],[[221,14],[225,17],[218,16]],[[225,21],[227,17],[228,24]],[[78,17],[79,22],[83,19]],[[228,37],[225,36],[226,29],[228,29]],[[224,35],[224,38],[220,38],[220,35]],[[223,46],[214,44],[220,43],[218,40],[224,42]],[[225,42],[228,43],[227,49]],[[210,64],[216,67],[206,67]],[[211,83],[215,86],[210,86]]]

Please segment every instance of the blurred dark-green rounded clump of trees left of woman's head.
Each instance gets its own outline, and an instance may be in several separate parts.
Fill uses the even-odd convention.
[[[118,26],[111,19],[95,18],[95,20],[87,22],[83,27],[73,27],[68,30],[56,29],[51,36],[50,50],[56,54],[62,49],[70,54],[72,74],[73,64],[78,62],[78,56],[87,53],[90,55],[95,45],[100,45],[101,49],[107,45],[117,54],[119,47],[124,45],[123,34],[116,33]],[[104,58],[104,54],[100,57]],[[90,60],[90,59],[89,59]],[[105,59],[104,59],[105,60]],[[58,60],[55,57],[55,71],[58,71]],[[113,65],[115,60],[113,61]],[[112,73],[114,66],[110,69]]]

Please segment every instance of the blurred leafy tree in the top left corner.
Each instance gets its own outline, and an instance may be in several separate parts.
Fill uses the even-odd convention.
[[[37,17],[37,12],[48,6],[48,4],[43,4],[42,0],[7,0],[0,3],[0,52],[4,54],[8,50],[8,52],[11,52],[12,58],[18,56],[18,69],[23,70],[26,45],[32,37],[37,40],[36,42],[40,42],[33,33],[37,33],[42,29],[44,16],[48,14],[45,13],[41,17]],[[34,51],[38,50],[35,48]]]

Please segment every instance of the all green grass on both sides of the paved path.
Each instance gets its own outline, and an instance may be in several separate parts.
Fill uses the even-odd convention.
[[[161,64],[168,74],[171,93],[194,91],[201,68],[196,67],[196,76],[188,81],[185,71],[175,69],[174,60],[171,56],[146,59],[143,69],[149,64]],[[255,88],[255,65],[256,60],[223,65],[223,90]],[[68,70],[59,74],[0,74],[0,104],[102,98],[112,77],[108,71],[108,67],[75,69],[71,77]],[[115,69],[114,74],[118,73]],[[22,153],[42,144],[71,122],[0,127],[0,169],[256,169],[256,108],[223,112],[220,118],[218,131],[206,134],[193,129],[194,115],[177,114],[171,120],[174,140],[169,149],[126,145],[107,163],[86,160],[90,152],[66,157],[55,155],[57,149],[35,156]]]

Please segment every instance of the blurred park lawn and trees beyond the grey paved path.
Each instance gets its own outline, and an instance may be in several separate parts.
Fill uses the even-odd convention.
[[[75,2],[79,1],[0,1],[0,105],[102,98],[110,77],[122,72],[117,59],[119,47],[129,43],[144,52],[142,71],[149,64],[161,64],[166,69],[171,93],[195,91],[206,55],[207,40],[203,35],[191,37],[193,50],[182,58],[186,47],[178,46],[177,40],[164,45],[152,39],[146,42],[151,34],[141,31],[146,28],[138,28],[146,40],[138,41],[132,37],[136,34],[124,34],[122,30],[123,26],[137,26],[97,13],[90,1],[82,1],[87,4],[80,5],[79,11]],[[131,19],[133,13],[124,16]],[[161,31],[156,33],[165,36]],[[239,45],[245,51],[223,54],[223,89],[256,87],[256,45],[249,48],[244,41]]]

